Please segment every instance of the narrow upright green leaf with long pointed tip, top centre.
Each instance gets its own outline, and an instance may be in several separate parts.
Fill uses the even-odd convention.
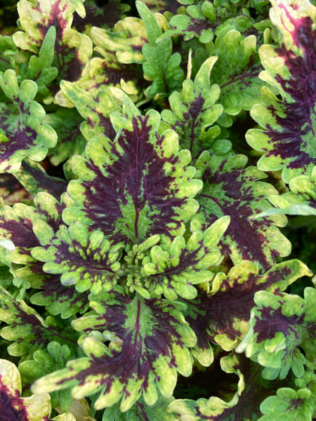
[[[180,53],[171,55],[172,41],[169,38],[156,43],[158,36],[162,34],[156,18],[141,1],[136,1],[136,7],[145,23],[148,39],[148,44],[142,50],[146,60],[143,64],[144,78],[153,81],[147,91],[148,98],[180,91],[184,79],[183,69],[180,68]]]

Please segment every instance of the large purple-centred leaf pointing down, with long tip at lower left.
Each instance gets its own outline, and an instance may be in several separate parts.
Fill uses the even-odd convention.
[[[32,389],[52,392],[72,386],[75,399],[98,393],[96,409],[120,401],[122,412],[140,396],[147,405],[154,405],[157,388],[169,398],[176,372],[190,375],[192,361],[187,347],[196,341],[180,312],[182,306],[178,306],[167,300],[145,301],[138,294],[131,299],[118,287],[96,295],[91,307],[97,314],[72,323],[76,330],[91,333],[81,340],[87,356],[42,377]]]

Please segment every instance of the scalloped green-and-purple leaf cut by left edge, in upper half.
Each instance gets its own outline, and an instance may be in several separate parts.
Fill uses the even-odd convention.
[[[10,100],[0,104],[0,171],[14,173],[25,156],[34,161],[44,159],[48,148],[56,145],[57,135],[42,123],[45,111],[34,101],[34,81],[22,81],[19,87],[14,70],[8,69],[0,73],[0,87]]]

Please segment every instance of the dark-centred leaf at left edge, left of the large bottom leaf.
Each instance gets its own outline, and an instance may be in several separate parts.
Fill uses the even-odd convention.
[[[13,342],[8,346],[8,354],[32,358],[39,348],[45,347],[51,340],[62,344],[77,345],[77,335],[70,331],[70,326],[62,326],[53,319],[46,321],[23,300],[17,300],[0,286],[0,319],[8,326],[0,330],[0,335]],[[59,326],[58,326],[59,325]]]

